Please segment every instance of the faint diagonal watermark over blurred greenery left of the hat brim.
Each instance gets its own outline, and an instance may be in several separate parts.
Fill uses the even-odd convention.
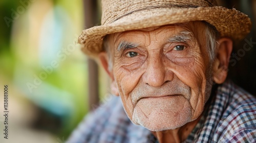
[[[41,71],[38,75],[33,75],[33,82],[27,82],[26,84],[30,93],[32,93],[32,90],[37,88],[43,80],[47,79],[48,75],[52,74],[54,69],[59,67],[59,62],[65,61],[67,56],[71,55],[71,53],[77,49],[77,39],[78,36],[76,36],[72,44],[69,44],[65,49],[61,49],[57,52],[56,57],[60,59],[59,61],[53,60],[50,65],[42,66],[43,71]]]

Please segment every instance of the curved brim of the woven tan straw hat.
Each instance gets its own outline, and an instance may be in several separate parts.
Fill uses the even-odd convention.
[[[103,51],[102,41],[105,35],[188,21],[206,21],[219,31],[221,37],[229,37],[232,40],[243,39],[251,29],[250,18],[236,9],[153,8],[133,12],[112,23],[83,30],[78,42],[82,44],[82,51],[85,54],[94,57]]]

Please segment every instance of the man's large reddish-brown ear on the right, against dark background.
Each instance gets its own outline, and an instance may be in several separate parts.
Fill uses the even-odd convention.
[[[221,84],[227,78],[228,63],[232,52],[233,42],[229,38],[221,38],[218,40],[216,60],[212,65],[213,80]]]

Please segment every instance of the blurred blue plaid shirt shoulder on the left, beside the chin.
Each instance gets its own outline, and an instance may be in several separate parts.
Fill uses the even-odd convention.
[[[111,96],[84,118],[67,142],[131,142],[142,140],[146,133],[127,117],[120,98]]]

